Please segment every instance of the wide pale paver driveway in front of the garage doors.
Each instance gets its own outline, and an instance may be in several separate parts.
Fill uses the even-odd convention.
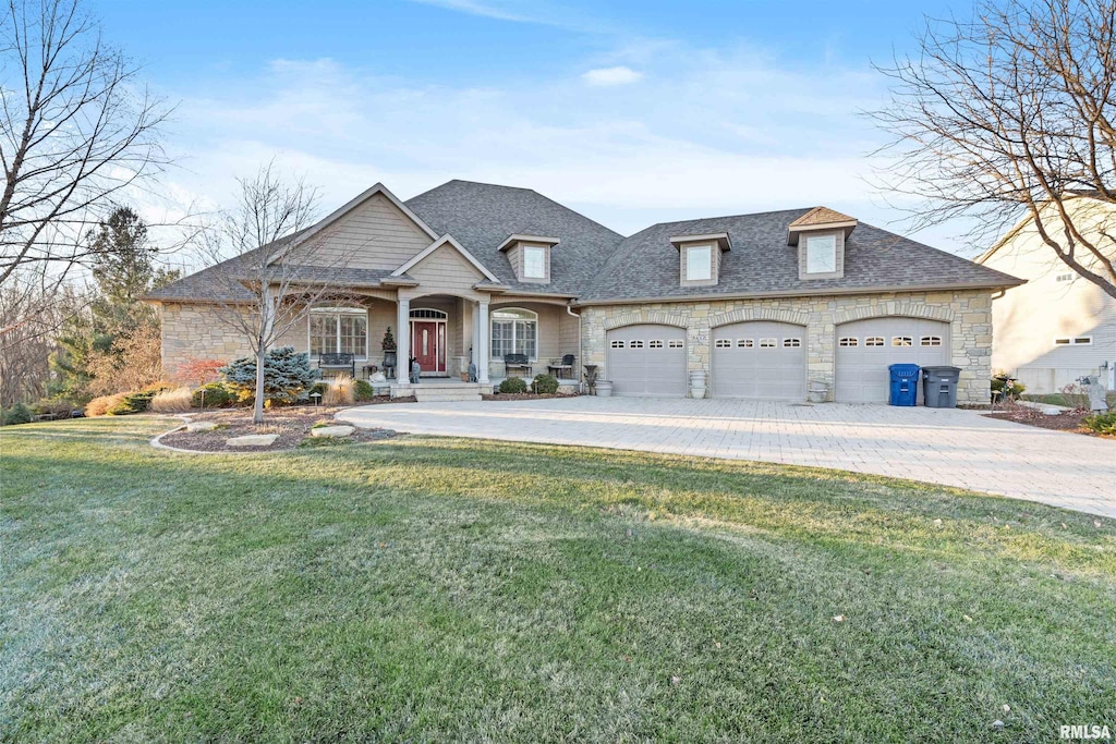
[[[971,410],[583,396],[377,405],[338,417],[414,434],[836,467],[1116,516],[1116,442]]]

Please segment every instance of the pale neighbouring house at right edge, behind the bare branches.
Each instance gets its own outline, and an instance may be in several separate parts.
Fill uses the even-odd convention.
[[[1074,212],[1079,225],[1116,218],[1095,200],[1083,199]],[[1089,232],[1096,238],[1096,230]],[[1116,257],[1116,243],[1107,241],[1107,249]],[[1062,263],[1031,219],[977,262],[1027,280],[992,303],[993,369],[1018,377],[1028,393],[1045,394],[1106,367],[1108,387],[1116,389],[1116,299]]]

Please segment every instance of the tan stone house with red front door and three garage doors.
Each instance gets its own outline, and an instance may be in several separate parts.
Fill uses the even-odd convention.
[[[364,247],[345,272],[364,299],[316,308],[285,342],[378,364],[391,326],[398,357],[415,356],[423,375],[456,375],[472,358],[482,384],[504,375],[506,354],[527,355],[536,374],[573,354],[617,395],[683,397],[704,373],[714,397],[804,400],[812,385],[882,403],[887,365],[914,361],[961,367],[959,399],[984,402],[991,298],[1020,283],[826,207],[624,238],[535,191],[451,181],[405,203],[377,184],[320,224]],[[234,265],[150,298],[169,370],[246,352],[213,318],[213,272]]]

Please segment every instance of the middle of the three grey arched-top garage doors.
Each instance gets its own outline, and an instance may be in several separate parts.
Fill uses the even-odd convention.
[[[806,328],[751,321],[713,329],[713,397],[806,399]]]

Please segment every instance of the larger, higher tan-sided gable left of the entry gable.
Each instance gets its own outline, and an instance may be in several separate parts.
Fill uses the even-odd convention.
[[[384,193],[374,193],[291,251],[290,263],[391,271],[430,245],[430,236]]]

